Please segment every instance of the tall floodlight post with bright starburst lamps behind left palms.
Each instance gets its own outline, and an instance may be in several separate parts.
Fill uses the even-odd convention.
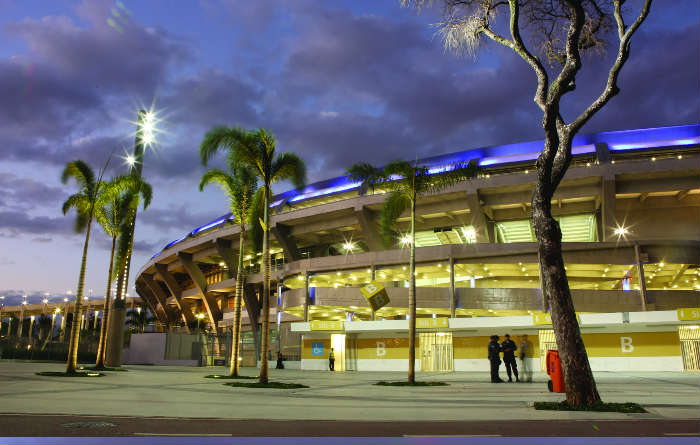
[[[134,139],[134,153],[126,160],[129,164],[129,174],[141,178],[143,170],[143,155],[146,147],[155,143],[156,118],[153,112],[139,110],[136,121],[136,137]],[[112,314],[109,317],[109,342],[105,365],[118,367],[122,362],[122,345],[124,344],[124,322],[126,320],[126,290],[129,284],[129,268],[131,266],[131,253],[134,246],[134,225],[136,223],[137,207],[131,210],[127,217],[131,220],[128,229],[122,236],[127,238],[127,252],[124,259],[124,268],[118,272],[117,294],[112,306]]]

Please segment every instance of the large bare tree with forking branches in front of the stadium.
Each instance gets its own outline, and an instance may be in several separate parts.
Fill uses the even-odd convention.
[[[431,0],[402,0],[421,8]],[[571,163],[571,142],[581,127],[620,91],[617,80],[630,54],[632,35],[649,15],[651,0],[638,11],[623,11],[625,0],[442,0],[437,24],[444,46],[474,54],[484,38],[514,51],[537,75],[534,101],[542,111],[544,148],[537,159],[532,195],[532,225],[538,242],[542,292],[552,313],[552,327],[562,360],[566,400],[571,405],[600,401],[581,339],[561,253],[561,230],[552,217],[551,200]],[[507,15],[508,26],[495,24]],[[631,25],[626,17],[633,18]],[[521,29],[522,28],[522,29]],[[571,122],[560,113],[562,98],[576,88],[583,51],[602,50],[617,31],[617,56],[600,95]],[[527,36],[528,43],[523,35]],[[544,55],[543,63],[537,54]]]

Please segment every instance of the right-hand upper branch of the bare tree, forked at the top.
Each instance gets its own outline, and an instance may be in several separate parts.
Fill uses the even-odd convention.
[[[598,96],[596,100],[591,103],[591,105],[586,108],[579,117],[576,118],[571,124],[569,124],[569,131],[577,132],[588,120],[593,117],[605,104],[610,101],[617,93],[620,92],[620,88],[617,86],[617,79],[620,75],[620,70],[624,66],[630,53],[630,40],[632,35],[639,29],[642,22],[649,15],[649,10],[651,8],[651,0],[645,0],[642,10],[639,16],[635,19],[632,25],[625,30],[625,23],[622,19],[621,6],[624,3],[623,0],[615,0],[615,21],[617,22],[617,32],[620,38],[620,46],[617,53],[617,58],[615,63],[610,68],[608,73],[608,80],[605,85],[605,89]]]

